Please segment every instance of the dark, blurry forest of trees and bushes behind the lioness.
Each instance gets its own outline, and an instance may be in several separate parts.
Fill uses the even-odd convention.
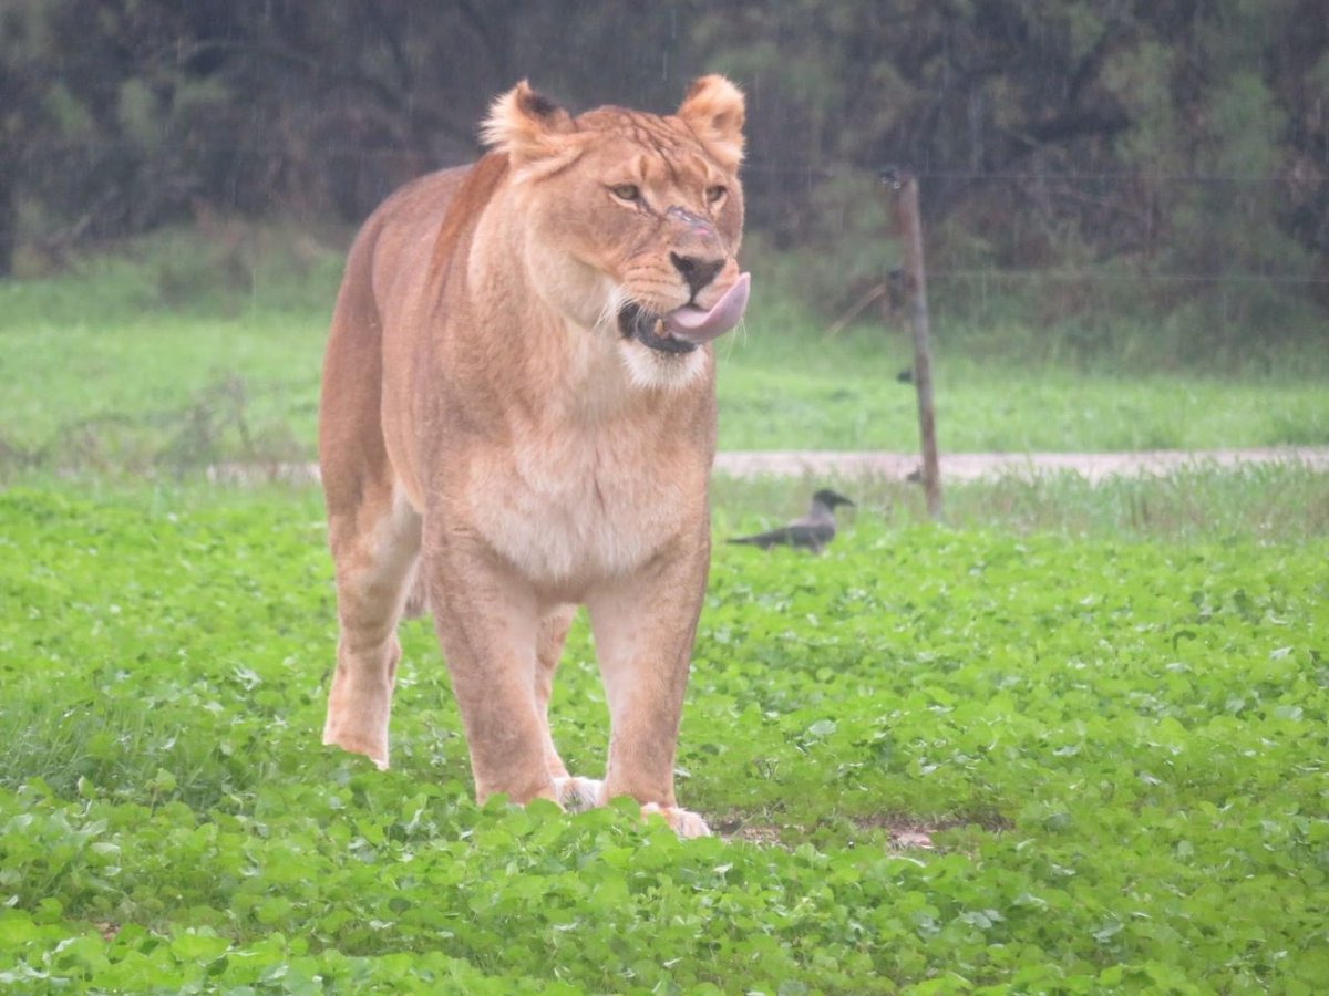
[[[710,70],[748,97],[751,244],[827,311],[881,279],[890,163],[942,279],[1324,335],[1324,0],[3,0],[0,275],[209,214],[356,222],[520,78],[667,112]]]

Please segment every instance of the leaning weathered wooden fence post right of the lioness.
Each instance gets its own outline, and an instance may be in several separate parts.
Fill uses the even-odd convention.
[[[888,166],[881,171],[881,182],[893,194],[896,231],[905,250],[905,308],[914,340],[913,381],[918,392],[922,487],[928,499],[928,515],[940,522],[941,469],[937,462],[937,422],[932,408],[932,351],[928,345],[928,284],[922,266],[918,179]]]

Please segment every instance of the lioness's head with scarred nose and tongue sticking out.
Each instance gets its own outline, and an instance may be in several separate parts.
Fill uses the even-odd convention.
[[[482,126],[508,157],[522,262],[546,303],[619,336],[639,380],[699,369],[690,357],[747,304],[735,258],[743,114],[720,76],[696,80],[664,117],[614,106],[571,117],[521,82]]]

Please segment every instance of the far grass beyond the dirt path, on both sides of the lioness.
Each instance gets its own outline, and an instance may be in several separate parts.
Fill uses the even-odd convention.
[[[166,232],[0,284],[0,473],[311,458],[338,244]],[[896,380],[910,363],[904,335],[827,340],[788,286],[756,280],[746,331],[719,349],[720,446],[913,449],[914,392]],[[1228,376],[1084,367],[1057,348],[1074,329],[1007,329],[1001,349],[997,332],[948,328],[945,303],[936,309],[945,450],[1329,444],[1329,357],[1313,344]]]

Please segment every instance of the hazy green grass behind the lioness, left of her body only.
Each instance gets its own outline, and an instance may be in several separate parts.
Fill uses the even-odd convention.
[[[307,458],[339,276],[306,236],[163,232],[0,284],[0,470]]]

